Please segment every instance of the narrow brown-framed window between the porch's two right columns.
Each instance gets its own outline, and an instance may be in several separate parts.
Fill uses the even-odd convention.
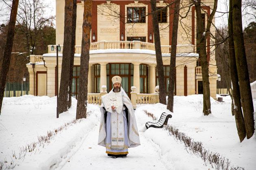
[[[148,66],[147,64],[139,65],[139,84],[140,93],[148,93]]]

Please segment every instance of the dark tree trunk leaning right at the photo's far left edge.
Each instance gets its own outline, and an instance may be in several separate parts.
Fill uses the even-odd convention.
[[[4,98],[4,87],[7,81],[7,74],[9,71],[9,66],[11,61],[11,51],[13,48],[13,38],[14,38],[14,32],[15,32],[15,23],[16,23],[16,17],[17,17],[18,4],[19,4],[19,0],[13,0],[13,4],[11,6],[11,15],[10,15],[10,21],[9,21],[9,27],[8,27],[8,33],[7,33],[7,40],[4,47],[4,57],[2,57],[3,61],[2,61],[1,74],[0,74],[1,75],[0,114],[2,109],[2,102]]]

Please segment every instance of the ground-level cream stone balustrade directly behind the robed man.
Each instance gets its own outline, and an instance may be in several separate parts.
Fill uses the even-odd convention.
[[[103,88],[102,88],[103,89]],[[159,103],[158,86],[156,87],[155,94],[137,94],[136,87],[131,87],[131,101],[133,108],[136,108],[137,104],[154,104]],[[103,89],[100,93],[88,93],[87,103],[101,105],[101,96],[107,94],[106,89]]]

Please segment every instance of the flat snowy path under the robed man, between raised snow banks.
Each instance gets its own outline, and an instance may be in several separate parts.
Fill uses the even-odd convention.
[[[140,133],[141,146],[129,148],[129,154],[126,158],[113,159],[108,157],[105,148],[97,144],[98,128],[97,125],[89,132],[80,149],[67,161],[62,170],[166,169],[160,161],[156,147],[153,147],[152,142],[146,139],[142,133]]]

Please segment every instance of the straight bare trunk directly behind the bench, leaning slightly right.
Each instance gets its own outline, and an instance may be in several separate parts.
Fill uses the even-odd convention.
[[[174,81],[176,79],[176,49],[178,38],[178,25],[179,25],[179,13],[180,13],[180,0],[175,2],[174,7],[174,20],[171,36],[171,61],[169,70],[169,95],[167,102],[167,109],[174,112]]]

